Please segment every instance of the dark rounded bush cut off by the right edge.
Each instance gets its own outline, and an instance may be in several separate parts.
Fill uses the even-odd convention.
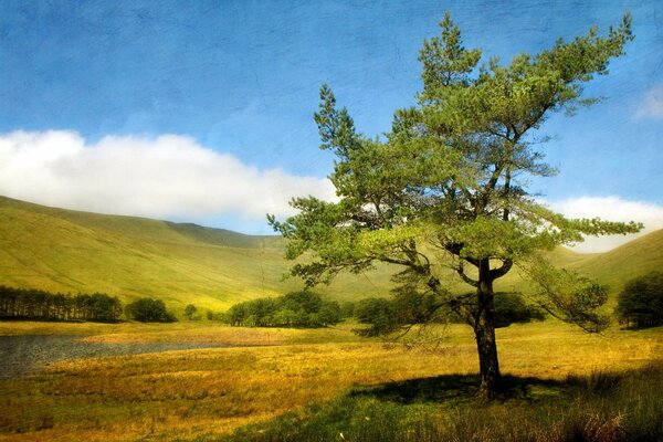
[[[652,272],[629,281],[618,296],[615,314],[627,327],[663,324],[663,273]]]

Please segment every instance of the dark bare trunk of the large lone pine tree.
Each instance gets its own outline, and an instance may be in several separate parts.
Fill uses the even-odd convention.
[[[474,320],[474,336],[476,338],[481,377],[478,393],[484,399],[491,400],[495,397],[501,375],[493,319],[493,281],[490,276],[488,260],[482,260],[480,265],[480,285],[476,295],[478,308]]]

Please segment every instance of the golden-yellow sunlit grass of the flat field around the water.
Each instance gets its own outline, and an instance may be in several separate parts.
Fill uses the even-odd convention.
[[[260,341],[271,334],[280,340],[263,347],[73,360],[42,375],[0,382],[0,440],[215,436],[336,397],[350,387],[477,369],[471,330],[461,325],[450,326],[444,344],[435,350],[360,340],[349,326],[257,330],[162,325],[150,332],[125,327],[119,334],[91,339],[206,341],[218,334],[221,340]],[[498,330],[505,373],[555,379],[641,367],[661,357],[662,338],[661,329],[611,330],[596,337],[554,322]],[[311,344],[288,344],[295,341]]]

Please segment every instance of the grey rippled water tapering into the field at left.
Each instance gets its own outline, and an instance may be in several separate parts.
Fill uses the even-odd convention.
[[[0,336],[0,379],[34,373],[52,362],[65,359],[228,347],[197,343],[87,343],[78,340],[80,338],[81,336]]]

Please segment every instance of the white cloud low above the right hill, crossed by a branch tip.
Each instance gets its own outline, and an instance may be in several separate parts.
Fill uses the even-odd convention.
[[[663,207],[649,202],[627,201],[619,197],[582,197],[549,204],[568,218],[600,218],[606,221],[636,221],[644,224],[644,230],[635,234],[589,236],[572,248],[577,252],[606,252],[663,228]]]

